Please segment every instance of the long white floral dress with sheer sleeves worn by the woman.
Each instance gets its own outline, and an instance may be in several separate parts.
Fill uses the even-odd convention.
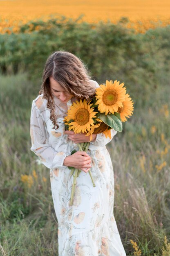
[[[91,80],[92,83],[98,83]],[[56,97],[58,130],[52,127],[47,100],[38,95],[31,108],[31,151],[47,168],[58,220],[58,256],[126,256],[114,218],[114,172],[103,133],[90,143],[87,153],[92,159],[93,187],[89,173],[81,171],[76,179],[73,205],[69,205],[73,175],[63,165],[77,144],[65,134],[63,118],[72,102],[61,103]],[[112,138],[116,135],[111,130]]]

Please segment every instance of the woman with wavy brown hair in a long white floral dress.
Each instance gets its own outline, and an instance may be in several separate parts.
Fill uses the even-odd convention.
[[[98,83],[74,54],[54,52],[43,72],[38,97],[31,108],[31,151],[49,168],[51,193],[58,220],[59,256],[125,256],[113,214],[114,173],[105,147],[112,138],[93,134],[89,150],[77,143],[89,141],[84,133],[65,131],[63,119],[76,99],[94,96]],[[77,150],[71,155],[72,150]],[[69,205],[73,176],[68,166],[81,169],[73,205]],[[88,173],[91,170],[95,187]]]

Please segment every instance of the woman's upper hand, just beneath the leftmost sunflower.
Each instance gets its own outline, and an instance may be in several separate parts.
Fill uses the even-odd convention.
[[[65,134],[68,135],[68,138],[71,139],[74,143],[82,143],[82,142],[90,142],[90,135],[89,136],[85,136],[85,132],[84,133],[74,133],[74,131],[65,131]],[[96,139],[97,134],[93,133],[92,134],[92,140],[94,141]]]

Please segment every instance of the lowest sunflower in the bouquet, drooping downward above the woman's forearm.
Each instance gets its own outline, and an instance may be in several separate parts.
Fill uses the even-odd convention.
[[[90,137],[90,140],[91,140],[93,133],[98,134],[98,133],[102,133],[103,132],[105,134],[106,138],[107,138],[107,136],[109,136],[110,139],[111,139],[111,129],[110,129],[110,127],[107,124],[105,124],[103,121],[101,121],[99,118],[97,118],[97,119],[100,122],[98,124],[95,124],[94,127],[92,127],[89,130],[89,132],[87,133],[87,136],[91,135],[91,137]]]

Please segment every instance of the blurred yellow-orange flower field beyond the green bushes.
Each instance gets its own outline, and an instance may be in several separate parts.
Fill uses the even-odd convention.
[[[0,0],[0,33],[17,33],[21,24],[30,20],[47,21],[49,18],[76,19],[79,22],[116,24],[128,18],[126,27],[145,33],[147,29],[170,25],[169,0]]]

